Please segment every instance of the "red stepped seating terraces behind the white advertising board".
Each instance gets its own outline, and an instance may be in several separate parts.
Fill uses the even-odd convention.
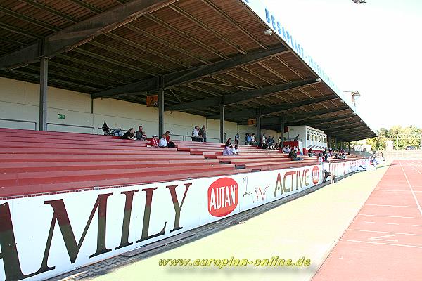
[[[276,150],[240,145],[223,156],[224,145],[174,141],[177,148],[151,148],[132,141],[81,133],[0,129],[0,197],[134,185],[286,169],[293,162]]]

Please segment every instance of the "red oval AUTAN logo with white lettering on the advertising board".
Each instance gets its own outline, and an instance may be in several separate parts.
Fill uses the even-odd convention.
[[[233,178],[219,178],[208,188],[208,212],[212,216],[226,216],[238,204],[238,183]]]

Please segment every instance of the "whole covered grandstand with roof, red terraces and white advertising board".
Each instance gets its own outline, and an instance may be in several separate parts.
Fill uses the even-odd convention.
[[[264,1],[1,0],[1,280],[54,277],[367,165],[309,154],[376,133],[304,48]],[[140,125],[147,140],[103,135]],[[149,145],[167,130],[174,148]],[[236,134],[239,155],[222,155]],[[271,198],[245,201],[266,178]]]

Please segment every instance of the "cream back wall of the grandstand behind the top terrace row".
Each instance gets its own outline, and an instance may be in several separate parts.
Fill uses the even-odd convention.
[[[91,103],[93,112],[91,112]],[[0,119],[19,119],[39,124],[39,85],[0,77]],[[49,131],[70,131],[75,133],[95,133],[106,121],[110,128],[129,129],[141,124],[148,136],[158,134],[158,108],[146,107],[111,98],[91,100],[85,93],[49,87],[47,94],[47,122]],[[65,119],[58,119],[64,114]],[[54,124],[86,126],[78,128]],[[193,126],[207,126],[207,138],[219,139],[219,120],[207,120],[200,115],[184,112],[165,112],[165,130],[172,134],[191,136]],[[238,132],[241,141],[245,133],[255,133],[255,126],[238,126],[225,122],[227,138],[234,139]],[[0,127],[14,129],[35,129],[33,123],[0,120]],[[94,129],[93,129],[94,128]],[[279,136],[276,131],[262,130],[267,136]],[[182,137],[174,136],[174,139]],[[212,139],[215,138],[215,139]]]

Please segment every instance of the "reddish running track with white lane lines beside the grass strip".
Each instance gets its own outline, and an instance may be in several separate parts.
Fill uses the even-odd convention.
[[[421,281],[421,204],[422,160],[393,162],[312,280]]]

